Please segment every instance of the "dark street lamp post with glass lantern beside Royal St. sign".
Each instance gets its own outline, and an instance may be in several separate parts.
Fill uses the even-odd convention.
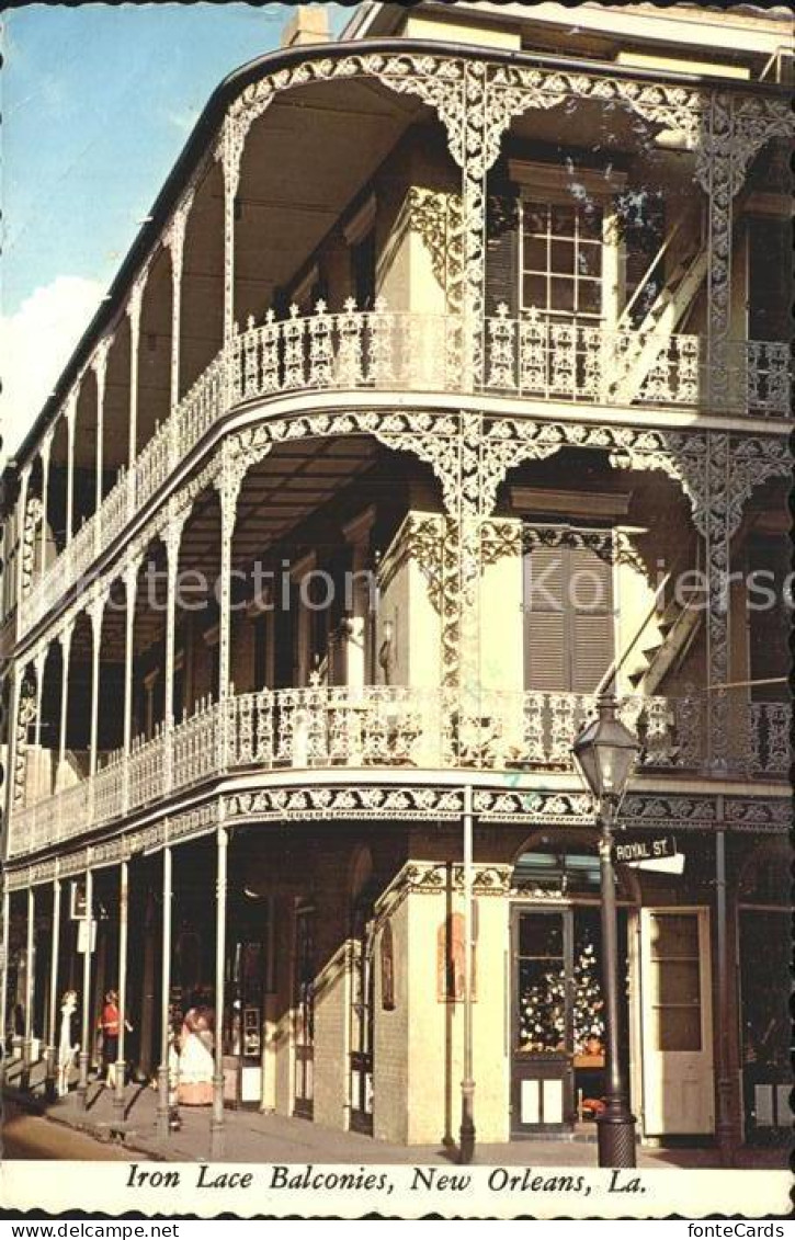
[[[590,789],[599,823],[602,879],[602,955],[606,1024],[606,1106],[598,1118],[600,1167],[635,1166],[635,1116],[629,1106],[619,1030],[618,928],[613,827],[637,759],[637,739],[615,715],[615,698],[603,694],[598,717],[573,745],[574,758]]]

